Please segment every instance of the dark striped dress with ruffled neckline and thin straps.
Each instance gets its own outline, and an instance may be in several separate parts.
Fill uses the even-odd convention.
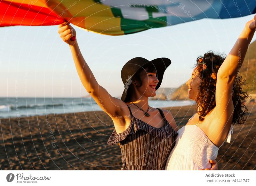
[[[128,106],[129,108],[129,106]],[[160,128],[135,118],[132,115],[129,127],[122,133],[112,132],[108,145],[121,144],[121,170],[164,170],[166,161],[175,145],[177,132],[165,119],[164,113],[157,108],[164,119]]]

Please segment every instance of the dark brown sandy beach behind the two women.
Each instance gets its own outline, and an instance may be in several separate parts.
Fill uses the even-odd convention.
[[[179,128],[195,106],[167,108]],[[235,126],[218,154],[219,170],[255,170],[256,107],[246,125]],[[114,127],[101,111],[1,119],[1,170],[120,170],[119,146],[108,146]]]

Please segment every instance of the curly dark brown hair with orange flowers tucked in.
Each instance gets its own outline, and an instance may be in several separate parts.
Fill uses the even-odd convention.
[[[196,59],[195,67],[197,68],[197,74],[201,79],[201,84],[196,97],[196,111],[197,114],[199,114],[199,121],[204,121],[204,116],[211,112],[211,110],[216,106],[215,90],[217,79],[213,77],[214,75],[217,77],[218,70],[225,58],[226,56],[223,54],[217,55],[212,51],[208,51],[204,56],[199,56]],[[214,74],[213,77],[212,74]],[[242,87],[244,85],[247,86],[245,80],[240,76],[236,76],[232,90],[232,100],[234,105],[234,114],[232,119],[233,124],[244,124],[246,121],[245,114],[248,112],[248,109],[244,103],[246,99],[250,98],[250,96],[247,92],[243,92]]]

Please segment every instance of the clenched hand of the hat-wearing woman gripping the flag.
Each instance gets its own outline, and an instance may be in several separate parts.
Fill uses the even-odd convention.
[[[72,41],[72,37],[76,37],[76,30],[69,25],[69,22],[64,22],[59,25],[58,33],[60,34],[60,38],[69,45],[74,45],[75,41]]]

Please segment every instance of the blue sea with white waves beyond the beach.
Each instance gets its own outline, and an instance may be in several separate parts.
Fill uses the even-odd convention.
[[[154,108],[195,104],[191,100],[149,100],[148,103]],[[102,110],[92,98],[0,97],[0,119],[86,111]]]

